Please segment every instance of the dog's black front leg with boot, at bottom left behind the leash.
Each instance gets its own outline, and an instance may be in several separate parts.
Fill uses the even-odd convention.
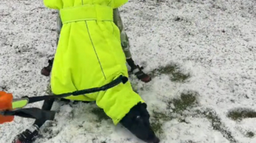
[[[45,100],[43,102],[43,106],[41,109],[48,110],[48,111],[51,110],[53,102],[54,102],[54,99]],[[12,141],[12,143],[34,142],[34,140],[36,140],[36,137],[38,135],[39,129],[41,128],[41,126],[43,126],[45,121],[46,120],[36,119],[34,124],[30,128],[26,129],[25,131],[23,131],[22,133],[14,137],[14,140]]]

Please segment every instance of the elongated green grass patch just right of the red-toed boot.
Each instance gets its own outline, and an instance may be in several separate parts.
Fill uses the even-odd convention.
[[[179,71],[179,68],[176,64],[169,64],[167,66],[161,66],[152,72],[150,72],[150,75],[152,77],[155,77],[159,74],[167,74],[170,75],[170,80],[174,82],[185,82],[191,75],[185,74]]]

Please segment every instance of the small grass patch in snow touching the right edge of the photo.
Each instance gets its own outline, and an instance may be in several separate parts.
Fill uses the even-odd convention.
[[[241,120],[245,118],[256,118],[256,111],[246,109],[246,108],[237,108],[235,110],[229,111],[227,117],[233,120]]]

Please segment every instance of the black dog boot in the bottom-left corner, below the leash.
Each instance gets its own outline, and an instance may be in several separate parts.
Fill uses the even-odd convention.
[[[34,140],[36,140],[38,133],[38,126],[32,125],[31,128],[26,129],[25,131],[14,137],[12,143],[32,143],[34,142]]]

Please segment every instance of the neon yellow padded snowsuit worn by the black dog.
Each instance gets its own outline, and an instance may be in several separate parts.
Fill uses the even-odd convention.
[[[103,86],[119,75],[128,77],[119,28],[113,23],[113,8],[128,0],[44,0],[60,10],[62,30],[52,65],[54,94]],[[71,100],[96,100],[114,124],[138,102],[130,82],[106,91],[70,96]]]

